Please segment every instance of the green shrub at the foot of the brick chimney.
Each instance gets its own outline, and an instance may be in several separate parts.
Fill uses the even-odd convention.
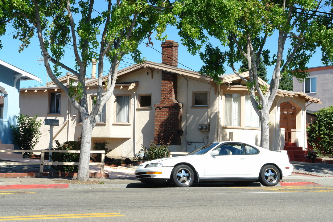
[[[163,140],[163,137],[161,138],[160,142],[152,140],[152,142],[150,143],[150,147],[146,149],[146,155],[148,160],[169,157],[168,147],[170,146],[170,141],[171,137],[169,138],[169,141],[167,143]]]

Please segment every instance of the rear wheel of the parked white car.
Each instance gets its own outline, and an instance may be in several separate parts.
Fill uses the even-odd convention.
[[[259,182],[264,186],[275,186],[280,181],[280,171],[273,165],[265,165],[261,168]]]

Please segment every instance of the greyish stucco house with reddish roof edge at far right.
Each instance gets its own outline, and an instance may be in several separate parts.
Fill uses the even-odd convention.
[[[312,113],[333,106],[331,88],[333,83],[333,66],[313,67],[309,68],[307,72],[311,74],[301,83],[296,77],[293,78],[293,91],[304,92],[306,95],[318,98],[322,102],[311,103],[307,106],[307,122],[312,122],[316,119],[316,116]]]

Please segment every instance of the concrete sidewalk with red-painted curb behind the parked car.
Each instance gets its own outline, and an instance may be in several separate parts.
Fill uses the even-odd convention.
[[[291,176],[283,177],[277,186],[332,186],[333,187],[333,164],[329,163],[306,163],[295,162]],[[22,171],[36,170],[32,166],[20,165]],[[28,169],[26,169],[28,167]],[[32,167],[32,168],[31,168]],[[36,166],[39,170],[39,166]],[[30,168],[30,169],[29,169]],[[52,168],[50,168],[53,170]],[[13,168],[4,167],[0,162],[0,174],[12,171]],[[45,168],[48,170],[48,168]],[[19,167],[15,171],[20,171]],[[100,172],[99,166],[90,166],[90,172]],[[80,183],[71,177],[0,177],[0,189],[37,189],[37,188],[132,188],[132,187],[152,187],[145,185],[136,179],[134,168],[128,167],[108,167],[105,166],[105,175],[108,177],[90,178],[87,183]],[[259,183],[253,183],[258,186]]]

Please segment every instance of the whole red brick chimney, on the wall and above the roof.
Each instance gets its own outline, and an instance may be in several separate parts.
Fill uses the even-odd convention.
[[[177,66],[178,43],[167,40],[161,44],[162,63]],[[172,58],[172,59],[170,59]],[[161,101],[155,104],[154,138],[161,140],[162,134],[165,142],[171,137],[170,145],[181,145],[182,104],[177,102],[177,75],[162,71]]]

